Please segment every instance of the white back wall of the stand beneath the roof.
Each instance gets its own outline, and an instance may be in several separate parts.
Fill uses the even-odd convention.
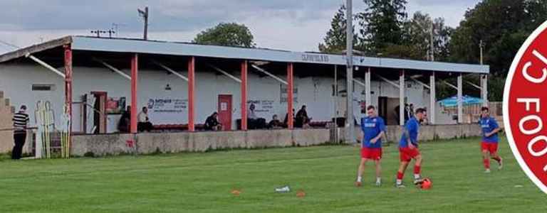
[[[61,68],[62,69],[62,68]],[[59,70],[61,70],[59,69]],[[130,70],[123,70],[129,74]],[[186,72],[182,72],[187,75]],[[239,77],[239,73],[235,74]],[[100,67],[73,67],[73,99],[79,101],[83,94],[92,91],[108,92],[108,97],[126,97],[127,105],[130,105],[130,81],[121,77],[107,68]],[[285,78],[284,76],[281,78]],[[236,119],[241,115],[240,110],[240,84],[229,77],[214,72],[196,73],[196,124],[204,123],[205,119],[213,111],[217,111],[219,94],[232,95],[232,127],[236,128]],[[257,104],[257,116],[271,119],[277,114],[283,119],[286,114],[286,103],[281,103],[281,83],[271,77],[259,77],[256,72],[249,69],[248,100],[259,102]],[[364,80],[362,80],[364,81]],[[298,102],[294,104],[296,111],[303,104],[308,106],[308,115],[313,121],[330,121],[335,116],[335,98],[332,96],[333,78],[329,77],[295,77],[295,88],[298,89]],[[56,88],[51,92],[31,91],[32,84],[55,84]],[[165,90],[170,84],[172,90]],[[345,88],[345,80],[339,80],[338,88]],[[406,88],[408,102],[414,103],[415,107],[429,108],[429,93],[421,85],[415,82],[407,82],[410,88]],[[377,105],[377,97],[399,97],[399,89],[386,82],[371,82],[373,103]],[[19,107],[26,104],[28,111],[34,111],[34,105],[40,99],[49,100],[53,104],[56,118],[61,117],[64,104],[64,81],[58,75],[37,65],[0,65],[0,90],[5,92],[6,97],[11,99],[12,105]],[[355,84],[355,94],[361,100],[365,99],[365,88]],[[138,107],[147,105],[150,98],[177,98],[187,99],[187,82],[174,75],[167,75],[167,72],[160,70],[140,70],[139,72],[139,94]],[[267,103],[268,108],[262,111],[262,103]],[[247,106],[248,107],[248,106]],[[343,116],[345,109],[340,109]],[[31,121],[33,121],[33,114]],[[440,114],[437,113],[437,117]],[[117,116],[109,116],[111,119],[118,119]],[[177,116],[167,116],[158,119],[151,115],[152,123],[155,124],[186,124],[187,109]],[[31,122],[33,124],[33,122]],[[115,129],[117,121],[109,121],[108,129]]]

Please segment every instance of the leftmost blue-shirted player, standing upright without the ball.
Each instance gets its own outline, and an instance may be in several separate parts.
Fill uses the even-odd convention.
[[[355,186],[360,187],[363,181],[363,172],[368,160],[374,160],[376,165],[376,185],[382,185],[380,178],[380,159],[382,159],[382,136],[385,133],[384,119],[376,113],[375,107],[367,107],[368,116],[361,119],[363,141],[361,142],[361,163],[357,172]]]

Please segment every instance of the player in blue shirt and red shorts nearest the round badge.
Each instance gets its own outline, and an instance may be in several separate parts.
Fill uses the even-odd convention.
[[[482,130],[481,151],[482,161],[484,163],[484,173],[490,173],[490,159],[488,153],[490,153],[492,159],[498,162],[498,169],[501,170],[504,165],[498,155],[498,132],[501,128],[499,128],[496,119],[490,116],[488,107],[481,108],[481,121],[479,121],[479,123],[481,124]]]

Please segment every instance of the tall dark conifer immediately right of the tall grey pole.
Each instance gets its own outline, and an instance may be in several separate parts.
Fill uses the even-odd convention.
[[[406,0],[363,0],[368,6],[358,13],[359,48],[365,53],[379,53],[388,45],[401,45],[402,23],[407,18]]]

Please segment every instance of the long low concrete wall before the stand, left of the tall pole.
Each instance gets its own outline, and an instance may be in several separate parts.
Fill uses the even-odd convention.
[[[328,129],[256,130],[180,133],[139,133],[73,136],[72,154],[83,156],[119,155],[122,153],[204,152],[234,148],[269,148],[312,146],[329,141]],[[127,141],[135,138],[135,146]]]

